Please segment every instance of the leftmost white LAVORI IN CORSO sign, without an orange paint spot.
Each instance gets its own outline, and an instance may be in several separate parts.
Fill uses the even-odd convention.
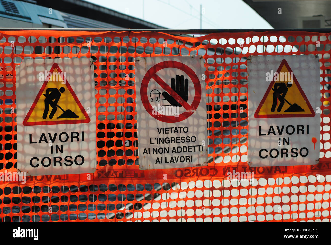
[[[16,66],[17,168],[26,175],[96,168],[94,66],[90,58]]]

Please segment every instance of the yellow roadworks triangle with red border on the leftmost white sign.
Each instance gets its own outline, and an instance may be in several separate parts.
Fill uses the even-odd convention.
[[[87,123],[90,118],[57,63],[45,73],[41,86],[23,125]]]

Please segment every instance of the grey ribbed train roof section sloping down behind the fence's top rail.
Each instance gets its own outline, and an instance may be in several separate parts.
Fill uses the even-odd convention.
[[[78,15],[60,12],[68,28],[123,28],[105,22],[91,20]]]

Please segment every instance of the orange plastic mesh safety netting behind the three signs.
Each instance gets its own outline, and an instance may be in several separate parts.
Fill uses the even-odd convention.
[[[330,33],[302,31],[0,31],[0,172],[17,171],[15,65],[23,59],[93,58],[98,161],[93,174],[0,182],[1,221],[330,221],[330,49]],[[193,54],[205,61],[209,166],[139,170],[134,58]],[[249,167],[247,57],[308,54],[320,61],[320,163]],[[229,181],[233,170],[255,179]]]

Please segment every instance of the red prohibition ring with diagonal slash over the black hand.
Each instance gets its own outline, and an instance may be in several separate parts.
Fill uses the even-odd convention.
[[[184,71],[191,78],[194,85],[194,98],[191,105],[189,105],[186,101],[184,101],[175,91],[173,91],[166,82],[164,82],[156,73],[165,68],[176,68]],[[175,116],[165,116],[161,114],[153,114],[154,110],[149,102],[147,87],[151,79],[154,79],[169,95],[172,95],[177,102],[184,107],[185,112],[179,114],[178,117]],[[187,118],[189,118],[195,110],[198,108],[201,100],[201,84],[200,80],[195,74],[195,72],[187,65],[173,60],[162,61],[152,66],[145,74],[141,85],[140,85],[140,98],[146,109],[146,111],[155,119],[161,122],[181,122]]]

